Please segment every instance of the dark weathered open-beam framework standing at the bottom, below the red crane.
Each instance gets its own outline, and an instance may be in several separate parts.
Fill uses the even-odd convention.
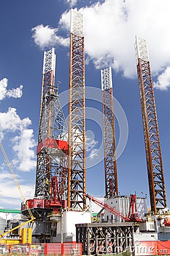
[[[120,254],[134,251],[134,224],[76,224],[76,242],[82,243],[83,254]]]

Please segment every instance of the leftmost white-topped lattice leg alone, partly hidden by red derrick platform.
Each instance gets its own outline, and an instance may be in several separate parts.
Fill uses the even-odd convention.
[[[56,55],[54,48],[48,52],[44,52],[44,62],[42,68],[42,90],[40,105],[40,123],[39,123],[39,144],[46,137],[50,137],[52,133],[50,129],[50,114],[46,111],[49,104],[49,95],[54,90],[56,67]],[[36,189],[35,197],[41,196],[48,199],[50,196],[50,171],[51,159],[45,150],[37,154],[37,171],[36,171]]]

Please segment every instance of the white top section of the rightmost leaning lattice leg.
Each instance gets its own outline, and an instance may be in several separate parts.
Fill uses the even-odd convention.
[[[134,46],[135,46],[135,56],[136,56],[137,65],[138,65],[138,59],[150,61],[149,55],[148,55],[146,39],[139,38],[138,36],[135,36]]]

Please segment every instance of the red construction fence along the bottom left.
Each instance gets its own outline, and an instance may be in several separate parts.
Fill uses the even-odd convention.
[[[57,256],[82,255],[82,243],[33,243],[0,245],[0,255]]]

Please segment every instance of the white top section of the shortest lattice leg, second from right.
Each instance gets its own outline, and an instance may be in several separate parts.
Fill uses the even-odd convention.
[[[101,90],[112,88],[112,68],[101,69]]]

